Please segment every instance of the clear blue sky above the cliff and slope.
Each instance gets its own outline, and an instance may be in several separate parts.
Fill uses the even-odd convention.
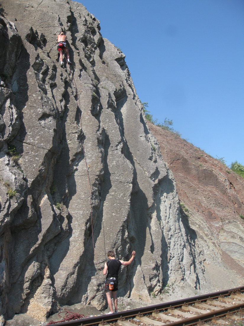
[[[244,165],[244,1],[83,0],[158,122]]]

